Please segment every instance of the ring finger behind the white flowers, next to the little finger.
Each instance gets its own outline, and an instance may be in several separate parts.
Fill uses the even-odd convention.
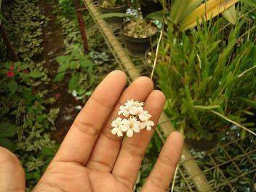
[[[144,109],[152,115],[151,120],[155,126],[163,110],[165,102],[164,94],[154,90],[145,100]],[[155,127],[154,126],[154,127]],[[154,128],[152,127],[152,129]],[[127,138],[121,146],[121,151],[113,167],[113,175],[131,190],[140,171],[140,164],[153,135],[153,130],[142,129],[139,134]]]

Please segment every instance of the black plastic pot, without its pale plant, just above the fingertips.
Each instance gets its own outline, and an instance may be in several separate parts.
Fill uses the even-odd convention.
[[[151,25],[157,29],[157,26],[154,23],[151,23]],[[151,43],[153,43],[153,41],[156,39],[157,31],[150,37],[135,38],[125,35],[123,29],[124,24],[121,25],[121,31],[124,37],[125,48],[127,49],[128,55],[132,57],[143,57],[147,49],[151,47]]]

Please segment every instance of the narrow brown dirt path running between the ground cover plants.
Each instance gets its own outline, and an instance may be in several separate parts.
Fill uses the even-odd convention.
[[[55,2],[47,2],[45,0],[39,1],[39,7],[44,10],[44,14],[49,18],[48,25],[43,28],[44,43],[42,46],[44,49],[40,60],[44,62],[45,68],[49,69],[49,78],[51,79],[55,78],[58,68],[58,63],[54,58],[65,54],[62,28],[57,23],[57,16],[53,13],[54,9],[52,8],[56,4]],[[69,78],[65,78],[60,83],[52,83],[46,87],[49,90],[49,97],[55,97],[56,99],[56,102],[50,107],[60,108],[60,113],[55,121],[57,130],[53,135],[53,139],[57,141],[63,140],[73,119],[79,113],[79,110],[76,110],[75,106],[81,105],[78,100],[67,92],[68,80]]]

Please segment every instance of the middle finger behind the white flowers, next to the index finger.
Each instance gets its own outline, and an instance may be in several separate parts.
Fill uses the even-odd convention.
[[[97,140],[92,156],[89,158],[87,168],[102,172],[111,172],[121,146],[122,137],[111,133],[111,122],[117,118],[120,104],[124,105],[128,99],[144,101],[153,89],[153,82],[147,77],[140,77],[121,95],[119,103],[115,106],[110,118]],[[107,149],[107,150],[106,150]]]

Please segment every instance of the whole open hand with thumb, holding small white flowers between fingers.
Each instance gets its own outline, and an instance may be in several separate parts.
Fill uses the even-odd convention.
[[[73,122],[55,158],[39,183],[39,191],[133,191],[140,164],[153,135],[145,129],[133,137],[111,134],[120,104],[127,99],[145,101],[144,108],[156,124],[165,97],[153,90],[153,82],[140,77],[125,90],[126,75],[113,71],[95,89]],[[167,138],[142,191],[167,191],[183,148],[183,137],[173,132]],[[25,174],[17,157],[0,147],[0,191],[25,191]]]

